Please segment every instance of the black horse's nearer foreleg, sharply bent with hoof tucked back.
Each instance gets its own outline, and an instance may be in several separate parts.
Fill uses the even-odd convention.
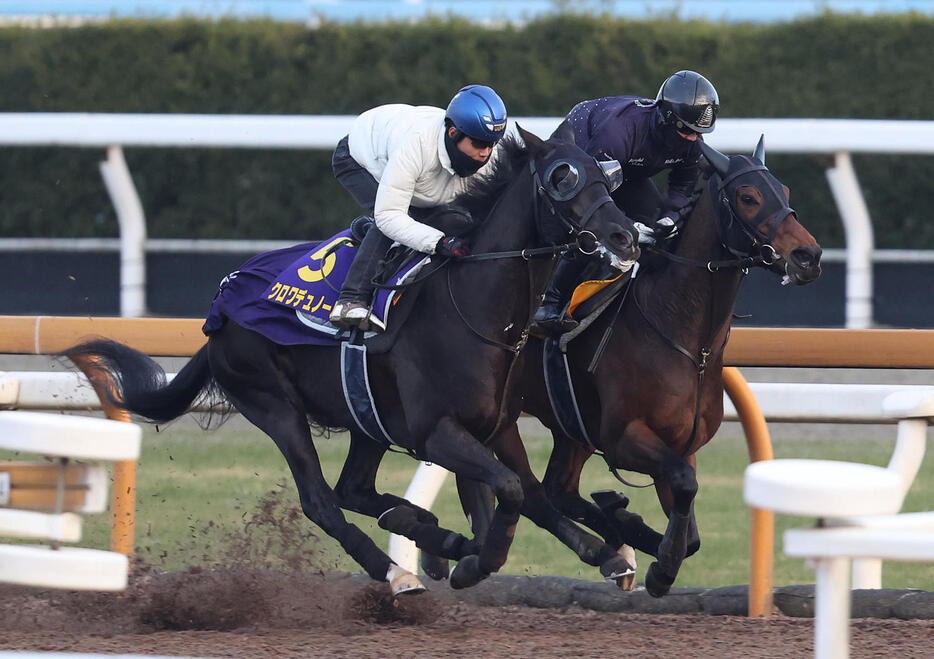
[[[430,461],[463,478],[486,483],[496,495],[498,505],[479,553],[462,559],[451,571],[453,588],[472,586],[506,562],[522,507],[522,485],[515,473],[450,417],[438,422],[425,450]]]

